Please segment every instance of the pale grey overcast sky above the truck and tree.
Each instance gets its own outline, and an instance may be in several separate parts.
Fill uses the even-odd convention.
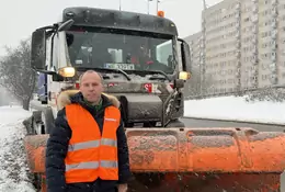
[[[122,10],[147,13],[147,0],[121,0]],[[159,9],[166,18],[176,23],[181,37],[201,30],[203,0],[161,0]],[[207,0],[208,5],[221,0]],[[36,27],[57,21],[66,7],[86,5],[105,9],[118,9],[119,0],[8,0],[0,4],[0,56],[3,46],[16,46],[29,37]],[[156,13],[156,2],[150,2],[150,13]]]

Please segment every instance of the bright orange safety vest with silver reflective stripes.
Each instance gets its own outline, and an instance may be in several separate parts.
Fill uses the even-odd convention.
[[[72,131],[66,165],[66,182],[118,180],[117,138],[121,112],[107,106],[102,136],[93,116],[80,104],[66,106],[66,117]]]

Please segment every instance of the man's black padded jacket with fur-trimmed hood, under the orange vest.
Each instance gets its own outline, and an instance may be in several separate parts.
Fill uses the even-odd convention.
[[[79,92],[70,98],[71,103],[80,103],[87,109],[96,121],[101,133],[103,128],[104,109],[112,105],[107,97],[102,95],[102,109],[95,111],[83,101]],[[118,181],[103,181],[98,179],[92,183],[72,183],[66,184],[65,181],[65,157],[67,155],[68,143],[71,137],[71,129],[66,120],[65,108],[58,111],[55,120],[55,128],[50,132],[46,148],[46,181],[48,192],[113,192],[119,183],[126,183],[130,177],[128,146],[124,132],[123,123],[117,128],[117,148],[118,148]]]

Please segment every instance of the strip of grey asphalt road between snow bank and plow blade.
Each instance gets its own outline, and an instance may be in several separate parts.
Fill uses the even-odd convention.
[[[255,123],[237,123],[197,118],[181,118],[181,121],[186,125],[186,127],[251,127],[260,132],[283,132],[285,129],[285,125],[282,126]]]

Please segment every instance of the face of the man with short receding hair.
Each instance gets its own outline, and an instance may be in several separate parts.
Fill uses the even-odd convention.
[[[80,91],[87,101],[98,103],[103,91],[100,76],[96,72],[84,74],[81,79]]]

